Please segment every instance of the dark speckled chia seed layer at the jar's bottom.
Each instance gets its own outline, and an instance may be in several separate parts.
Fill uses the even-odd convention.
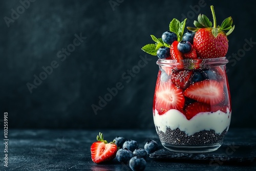
[[[224,136],[227,133],[225,129],[221,134],[216,134],[214,130],[200,131],[191,136],[187,136],[185,132],[179,129],[171,130],[166,129],[163,133],[157,128],[157,133],[162,143],[168,143],[172,145],[210,145],[216,143],[222,143]]]

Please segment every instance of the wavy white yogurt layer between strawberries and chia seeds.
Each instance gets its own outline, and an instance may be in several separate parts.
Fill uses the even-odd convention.
[[[159,131],[166,132],[167,127],[171,130],[185,132],[188,136],[200,131],[214,130],[216,134],[221,134],[226,128],[228,130],[231,119],[231,111],[227,109],[227,113],[217,112],[201,112],[196,116],[187,120],[184,114],[176,109],[171,109],[163,115],[159,115],[155,110],[154,123]]]

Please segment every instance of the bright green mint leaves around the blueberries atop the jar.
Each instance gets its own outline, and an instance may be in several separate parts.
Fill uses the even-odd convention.
[[[181,41],[181,39],[182,39],[182,35],[183,35],[185,25],[186,25],[186,20],[187,20],[187,18],[185,18],[183,20],[183,22],[180,22],[178,19],[174,18],[172,20],[172,22],[170,22],[170,24],[169,24],[169,31],[177,34],[178,41]],[[165,42],[163,42],[162,38],[156,38],[156,36],[154,36],[154,35],[151,35],[151,38],[153,39],[153,41],[155,41],[155,44],[147,44],[141,48],[144,52],[146,52],[148,54],[157,56],[157,50],[159,48],[161,48],[161,47],[169,48],[170,47],[170,45],[165,44]]]

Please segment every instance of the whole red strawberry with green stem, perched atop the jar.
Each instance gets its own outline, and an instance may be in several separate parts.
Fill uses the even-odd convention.
[[[227,36],[234,30],[232,18],[226,18],[221,26],[217,26],[214,6],[210,6],[214,18],[214,27],[205,15],[198,15],[198,21],[194,22],[197,28],[187,27],[188,30],[196,31],[193,46],[199,58],[224,57],[228,50]],[[229,30],[227,33],[224,32]]]

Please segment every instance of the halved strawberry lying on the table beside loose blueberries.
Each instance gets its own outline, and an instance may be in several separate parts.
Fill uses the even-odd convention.
[[[91,157],[93,162],[101,163],[112,160],[116,157],[117,146],[115,142],[106,142],[103,140],[102,133],[97,136],[97,141],[91,145]]]

